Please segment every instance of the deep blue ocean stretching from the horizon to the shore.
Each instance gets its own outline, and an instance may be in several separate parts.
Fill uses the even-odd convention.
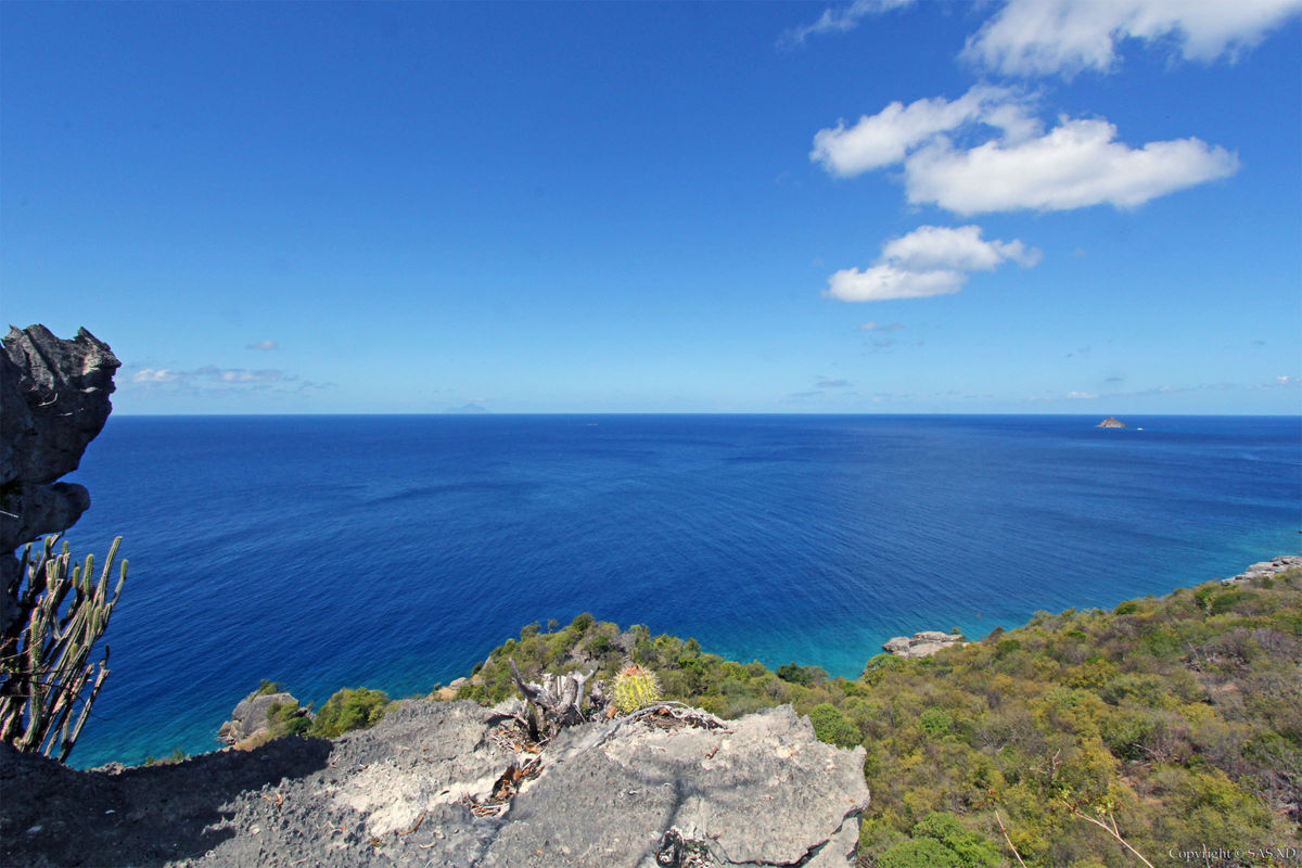
[[[72,760],[214,750],[263,678],[427,692],[585,610],[853,677],[1298,552],[1302,418],[1126,420],[115,416],[68,539],[130,578]]]

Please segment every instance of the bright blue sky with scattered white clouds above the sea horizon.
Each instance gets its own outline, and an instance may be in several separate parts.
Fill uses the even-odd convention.
[[[0,5],[117,413],[1302,410],[1302,3]]]

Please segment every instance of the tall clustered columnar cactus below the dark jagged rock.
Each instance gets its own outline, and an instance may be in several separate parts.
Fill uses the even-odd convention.
[[[108,677],[108,645],[98,666],[87,660],[122,592],[126,561],[109,596],[109,576],[122,537],[109,547],[99,580],[94,578],[95,556],[76,563],[66,543],[55,554],[57,539],[47,537],[36,558],[30,545],[22,554],[20,617],[0,636],[0,742],[20,751],[57,755],[64,761]],[[90,694],[83,696],[87,685]],[[74,718],[78,701],[81,711]]]

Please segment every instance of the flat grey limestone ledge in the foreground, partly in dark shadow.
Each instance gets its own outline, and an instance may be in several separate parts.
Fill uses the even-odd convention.
[[[819,742],[790,707],[721,729],[583,724],[540,753],[513,711],[408,700],[335,742],[289,738],[116,773],[0,746],[0,863],[853,864],[863,748]],[[503,791],[513,798],[492,804]]]

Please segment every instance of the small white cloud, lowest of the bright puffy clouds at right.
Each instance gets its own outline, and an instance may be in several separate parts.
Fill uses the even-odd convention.
[[[980,226],[919,226],[881,247],[878,263],[844,268],[828,278],[827,294],[842,302],[880,302],[957,293],[973,271],[992,271],[1012,260],[1022,267],[1040,251],[1021,241],[984,241]]]

